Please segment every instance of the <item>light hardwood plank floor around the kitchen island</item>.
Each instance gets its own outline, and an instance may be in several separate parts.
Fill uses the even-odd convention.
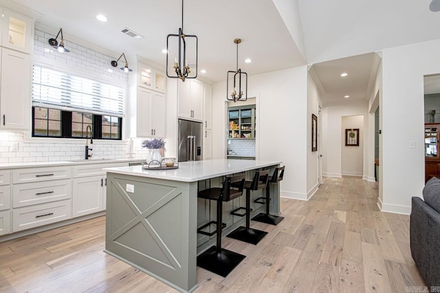
[[[283,199],[278,226],[257,245],[225,237],[247,257],[219,277],[197,268],[195,292],[407,292],[424,286],[409,216],[382,213],[377,185],[326,178],[309,201]],[[176,292],[103,253],[105,218],[0,243],[0,292]]]

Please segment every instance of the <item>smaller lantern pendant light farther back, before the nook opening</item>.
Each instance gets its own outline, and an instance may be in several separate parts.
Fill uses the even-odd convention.
[[[239,69],[239,43],[241,43],[241,38],[234,39],[234,44],[236,44],[236,70],[228,71],[226,77],[226,99],[234,102],[245,101],[248,99],[248,73]],[[242,77],[244,84],[241,82]],[[229,80],[232,78],[234,79],[234,86],[230,89]],[[243,89],[245,89],[244,93]]]

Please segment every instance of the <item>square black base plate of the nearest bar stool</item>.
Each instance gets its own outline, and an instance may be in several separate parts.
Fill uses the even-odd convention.
[[[226,277],[245,257],[245,255],[224,248],[221,248],[218,253],[217,247],[211,246],[197,257],[197,266]]]

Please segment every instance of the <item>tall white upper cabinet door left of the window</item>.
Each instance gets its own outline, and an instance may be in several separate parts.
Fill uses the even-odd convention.
[[[29,130],[30,55],[2,49],[0,129]]]

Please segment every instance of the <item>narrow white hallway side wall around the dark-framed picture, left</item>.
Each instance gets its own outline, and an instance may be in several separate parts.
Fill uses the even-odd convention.
[[[311,115],[314,114],[319,117],[318,104],[320,103],[320,93],[313,78],[310,74],[307,74],[307,198],[313,196],[318,190],[318,156],[320,154],[322,145],[318,143],[318,150],[316,152],[311,151]],[[318,123],[319,124],[319,123]],[[320,135],[318,131],[318,135]]]

